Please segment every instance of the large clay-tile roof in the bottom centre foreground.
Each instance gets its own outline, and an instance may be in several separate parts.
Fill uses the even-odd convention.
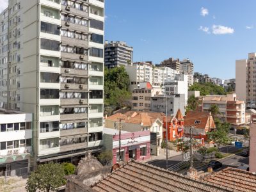
[[[95,191],[233,191],[204,180],[138,161],[129,161],[92,188]]]

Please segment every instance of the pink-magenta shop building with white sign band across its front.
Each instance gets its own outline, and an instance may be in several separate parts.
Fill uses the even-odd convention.
[[[113,153],[113,164],[129,159],[143,161],[150,158],[150,131],[121,132],[121,152],[119,155],[119,131],[104,128],[104,145]]]

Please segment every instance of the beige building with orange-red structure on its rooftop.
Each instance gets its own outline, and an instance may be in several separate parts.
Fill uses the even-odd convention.
[[[141,82],[140,87],[132,90],[132,109],[150,111],[151,97],[161,94],[161,88],[153,88],[149,82]]]

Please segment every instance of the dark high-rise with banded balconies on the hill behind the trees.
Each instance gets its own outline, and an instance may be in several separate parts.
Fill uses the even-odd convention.
[[[133,48],[126,42],[105,42],[104,62],[108,68],[127,66],[132,64]]]

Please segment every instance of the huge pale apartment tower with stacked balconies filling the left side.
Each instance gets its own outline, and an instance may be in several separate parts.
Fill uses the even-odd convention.
[[[33,113],[37,163],[100,149],[104,0],[9,0],[1,17],[1,107]]]

